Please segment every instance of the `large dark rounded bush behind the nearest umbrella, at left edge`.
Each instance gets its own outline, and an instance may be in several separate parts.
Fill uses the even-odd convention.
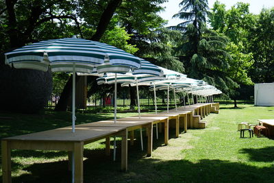
[[[51,72],[13,69],[0,58],[0,110],[34,113],[44,108],[52,91]]]

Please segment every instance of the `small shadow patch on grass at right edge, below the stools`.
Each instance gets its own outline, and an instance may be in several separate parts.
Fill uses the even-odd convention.
[[[241,149],[240,153],[249,154],[252,161],[258,162],[273,162],[274,161],[274,147],[264,147],[260,149]]]

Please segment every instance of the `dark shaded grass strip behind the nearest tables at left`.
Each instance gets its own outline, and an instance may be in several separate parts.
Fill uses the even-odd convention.
[[[77,113],[76,116],[76,125],[112,119],[112,117],[107,117],[103,114]],[[5,120],[0,120],[0,138],[52,130],[71,125],[71,112],[45,111],[42,114],[20,114],[0,111],[0,117],[5,117]]]

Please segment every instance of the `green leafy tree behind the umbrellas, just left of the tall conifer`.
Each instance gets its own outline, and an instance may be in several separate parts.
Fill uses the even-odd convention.
[[[159,27],[163,27],[165,22],[157,13],[163,10],[160,6],[166,0],[129,0],[123,1],[119,10],[117,10],[117,19],[121,27],[131,35],[129,44],[136,45],[139,51],[136,56],[149,57],[143,54],[148,37],[151,36]],[[149,61],[157,62],[154,59]],[[130,106],[136,106],[136,89],[130,87]]]

